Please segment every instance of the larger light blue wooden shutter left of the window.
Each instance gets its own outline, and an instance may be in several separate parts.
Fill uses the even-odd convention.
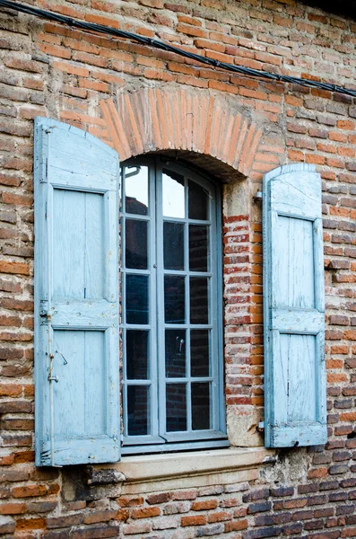
[[[118,159],[35,119],[36,464],[119,459]]]

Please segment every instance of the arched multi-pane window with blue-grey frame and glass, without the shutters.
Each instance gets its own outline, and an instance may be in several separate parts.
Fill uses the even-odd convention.
[[[219,445],[219,190],[160,160],[122,171],[124,452]]]

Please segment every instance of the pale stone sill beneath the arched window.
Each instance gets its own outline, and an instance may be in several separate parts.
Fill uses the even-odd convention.
[[[265,447],[218,449],[165,455],[123,456],[117,464],[95,466],[123,473],[122,494],[189,489],[257,479],[258,468],[274,463]]]

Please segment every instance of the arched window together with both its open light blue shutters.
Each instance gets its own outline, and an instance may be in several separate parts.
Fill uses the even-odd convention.
[[[119,232],[115,150],[37,118],[34,157],[36,464],[229,445],[217,186],[177,164],[125,163]],[[263,192],[265,444],[319,445],[327,434],[320,175],[314,165],[283,165],[265,174]]]

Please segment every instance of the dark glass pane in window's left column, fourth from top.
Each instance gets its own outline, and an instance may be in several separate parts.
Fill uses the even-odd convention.
[[[149,378],[149,332],[126,331],[126,377],[128,380]]]

